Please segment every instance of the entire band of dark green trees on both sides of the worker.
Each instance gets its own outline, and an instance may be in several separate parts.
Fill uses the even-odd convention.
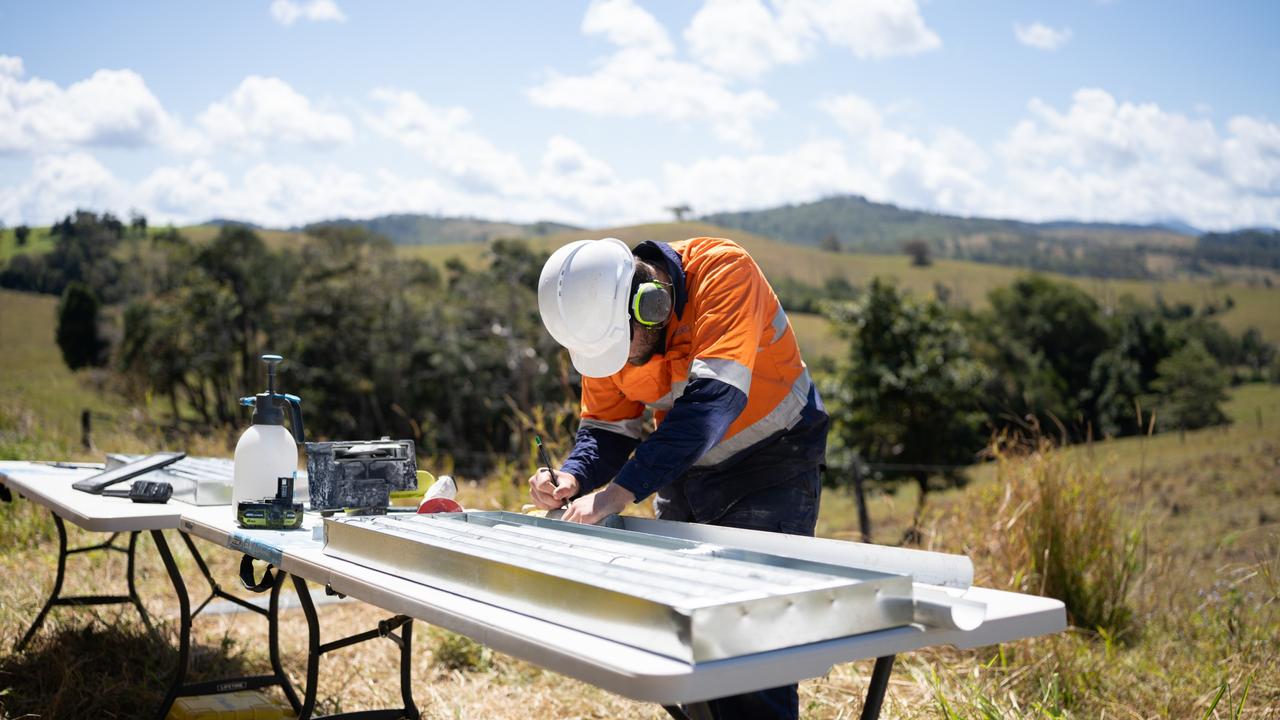
[[[0,286],[61,295],[68,364],[109,366],[191,430],[247,421],[237,401],[262,389],[264,352],[285,356],[280,383],[303,398],[312,437],[410,437],[480,473],[526,450],[530,418],[562,437],[576,425],[579,379],[538,316],[545,255],[522,241],[489,243],[481,268],[442,268],[357,225],[271,247],[246,225],[196,243],[78,211],[50,234],[52,250],[14,256]],[[882,279],[776,290],[846,341],[842,357],[812,363],[837,482],[868,462],[925,489],[956,482],[1004,428],[1075,442],[1148,432],[1153,415],[1157,430],[1221,423],[1233,375],[1276,375],[1275,347],[1230,334],[1212,309],[1103,306],[1042,275],[992,291],[984,310]]]

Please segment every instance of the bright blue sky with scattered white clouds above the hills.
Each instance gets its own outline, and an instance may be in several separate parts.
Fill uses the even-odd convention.
[[[0,3],[0,220],[1280,225],[1276,3]]]

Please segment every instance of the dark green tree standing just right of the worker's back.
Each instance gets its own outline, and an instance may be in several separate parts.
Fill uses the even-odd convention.
[[[989,374],[970,357],[960,324],[941,304],[879,278],[831,316],[850,341],[827,392],[840,443],[868,462],[901,465],[887,474],[914,478],[922,503],[931,477],[960,482],[955,466],[973,462],[983,446]]]

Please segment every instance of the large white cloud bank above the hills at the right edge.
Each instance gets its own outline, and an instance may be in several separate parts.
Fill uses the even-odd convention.
[[[1005,197],[996,211],[1029,219],[1197,227],[1280,224],[1280,126],[1235,117],[1226,135],[1207,118],[1121,102],[1083,88],[1059,111],[1028,104],[1000,145]]]

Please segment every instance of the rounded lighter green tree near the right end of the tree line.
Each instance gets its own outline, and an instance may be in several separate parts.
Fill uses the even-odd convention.
[[[1157,366],[1156,423],[1165,428],[1193,430],[1228,421],[1226,373],[1199,341],[1190,341]]]

